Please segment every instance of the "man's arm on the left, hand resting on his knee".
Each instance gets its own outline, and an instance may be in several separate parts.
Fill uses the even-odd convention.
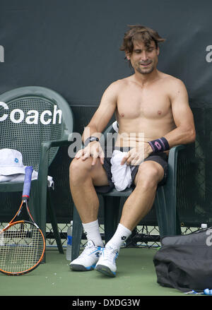
[[[105,90],[105,93],[102,95],[100,106],[93,115],[88,126],[86,126],[85,130],[83,131],[83,137],[82,137],[83,143],[85,143],[90,136],[100,138],[102,131],[107,126],[117,107],[118,93],[119,93],[119,81],[112,83]],[[100,157],[100,161],[103,164],[104,153],[102,151],[99,142],[97,141],[90,142],[88,145],[86,145],[86,148],[84,148],[83,150],[79,150],[78,153],[76,154],[76,158],[82,157],[83,160],[86,160],[86,158],[90,156],[93,157],[92,165],[95,165],[97,157]]]

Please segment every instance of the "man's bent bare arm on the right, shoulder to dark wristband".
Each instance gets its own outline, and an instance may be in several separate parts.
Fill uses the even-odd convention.
[[[177,79],[175,83],[172,84],[170,90],[172,115],[176,128],[167,133],[164,138],[169,143],[170,148],[172,148],[175,145],[194,142],[196,131],[194,117],[189,107],[188,93],[184,83]]]

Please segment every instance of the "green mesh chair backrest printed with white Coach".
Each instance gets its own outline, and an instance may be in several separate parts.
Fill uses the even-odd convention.
[[[0,149],[12,148],[23,155],[23,164],[38,171],[44,141],[68,139],[73,114],[68,102],[48,88],[27,86],[0,95]],[[49,153],[49,165],[58,148]]]

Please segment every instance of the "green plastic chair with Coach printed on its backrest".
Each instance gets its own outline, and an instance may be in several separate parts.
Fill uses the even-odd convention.
[[[30,210],[44,234],[49,210],[60,253],[64,251],[47,191],[47,175],[59,147],[70,144],[68,138],[72,132],[71,108],[55,91],[28,86],[0,95],[0,148],[18,150],[23,155],[23,165],[33,166],[38,172],[37,179],[31,185]],[[0,182],[0,192],[22,190],[23,182]]]

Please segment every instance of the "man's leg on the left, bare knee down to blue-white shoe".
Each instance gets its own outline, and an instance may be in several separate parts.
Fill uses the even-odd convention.
[[[70,166],[71,195],[88,239],[83,253],[71,261],[72,270],[93,270],[103,246],[98,225],[99,200],[94,186],[107,185],[107,174],[99,159],[94,166],[91,163],[91,157],[79,158]]]

